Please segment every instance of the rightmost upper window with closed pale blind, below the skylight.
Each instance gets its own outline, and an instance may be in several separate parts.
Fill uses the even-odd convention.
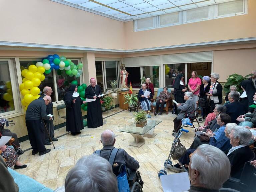
[[[217,6],[217,16],[243,12],[243,0],[220,3]]]

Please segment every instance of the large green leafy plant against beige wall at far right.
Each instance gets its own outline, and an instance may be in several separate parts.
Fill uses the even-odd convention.
[[[231,85],[235,85],[237,87],[237,91],[239,92],[242,92],[242,88],[241,88],[241,82],[243,80],[246,80],[247,77],[251,76],[251,74],[249,75],[246,75],[245,77],[243,77],[242,75],[238,75],[238,74],[232,74],[232,75],[229,75],[228,78],[227,78],[227,82],[224,83],[224,91],[226,93],[229,92],[229,88]]]

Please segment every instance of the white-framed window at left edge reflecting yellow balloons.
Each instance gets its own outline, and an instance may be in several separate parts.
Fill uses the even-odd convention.
[[[0,115],[9,115],[20,110],[17,75],[11,59],[0,59]]]

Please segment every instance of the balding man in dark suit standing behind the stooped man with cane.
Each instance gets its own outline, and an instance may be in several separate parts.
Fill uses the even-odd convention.
[[[52,88],[51,87],[44,87],[43,89],[43,94],[41,95],[41,98],[43,98],[44,96],[51,96],[52,95]],[[53,115],[53,104],[52,101],[49,103],[49,105],[46,106],[46,113],[47,115],[51,114]],[[58,139],[54,138],[54,125],[53,125],[53,120],[44,120],[46,128],[50,134],[50,137],[52,138],[52,141],[58,141]],[[45,145],[51,145],[50,143],[50,138],[48,135],[48,132],[45,130]]]

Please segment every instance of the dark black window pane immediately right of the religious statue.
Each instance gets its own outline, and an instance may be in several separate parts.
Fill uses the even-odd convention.
[[[129,73],[128,75],[128,87],[130,82],[132,82],[132,88],[141,88],[140,87],[140,67],[125,67],[125,70]]]

